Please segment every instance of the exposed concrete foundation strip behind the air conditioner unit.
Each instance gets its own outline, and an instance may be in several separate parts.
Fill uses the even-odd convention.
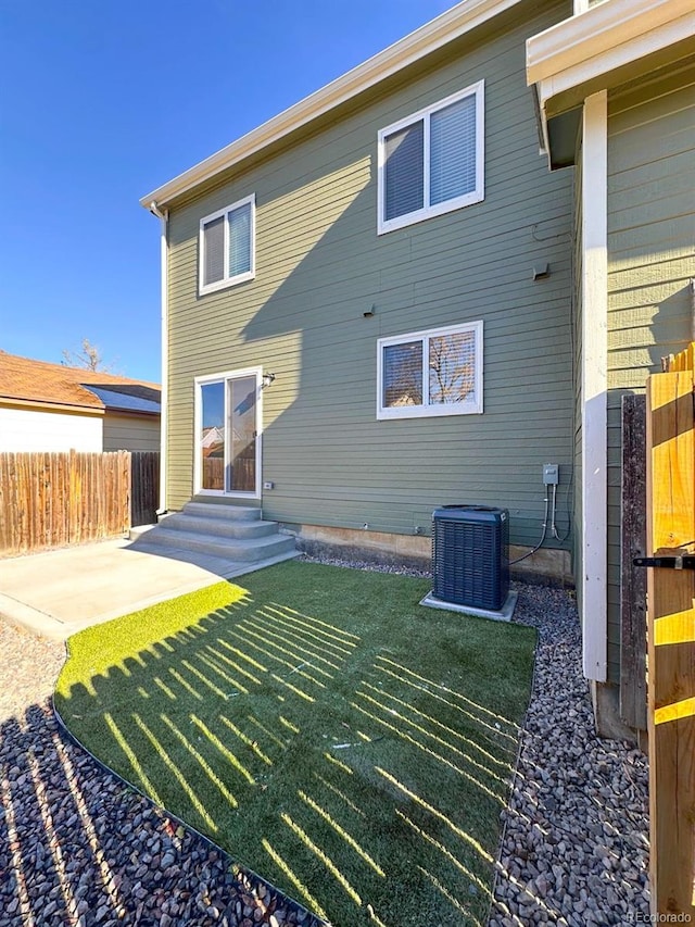
[[[386,531],[331,528],[323,525],[281,523],[280,529],[296,538],[299,550],[309,556],[333,556],[366,563],[431,568],[432,539],[424,535],[396,535]],[[528,553],[531,548],[510,544],[509,560]],[[534,582],[571,588],[574,585],[570,555],[552,548],[536,551],[511,566],[511,577]]]

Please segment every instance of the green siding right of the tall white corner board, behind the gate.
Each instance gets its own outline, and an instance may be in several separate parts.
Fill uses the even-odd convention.
[[[608,661],[620,660],[620,401],[691,339],[695,63],[627,85],[608,110]]]

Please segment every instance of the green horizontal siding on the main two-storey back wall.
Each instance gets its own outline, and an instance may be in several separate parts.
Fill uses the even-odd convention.
[[[458,42],[444,63],[173,209],[169,508],[192,493],[193,377],[263,365],[277,376],[263,394],[267,517],[413,534],[442,503],[500,504],[514,542],[538,541],[542,464],[557,462],[565,481],[573,462],[572,172],[549,174],[539,156],[525,40],[568,11],[548,4]],[[378,237],[378,129],[480,78],[484,202]],[[256,278],[199,298],[200,218],[251,192]],[[551,276],[534,283],[540,262]],[[377,338],[480,318],[483,415],[376,419]]]

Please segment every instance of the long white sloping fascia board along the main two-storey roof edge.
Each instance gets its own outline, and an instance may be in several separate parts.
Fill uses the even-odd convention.
[[[157,187],[147,197],[142,197],[140,204],[144,209],[150,209],[152,202],[159,206],[165,205],[174,197],[187,192],[222,171],[262,151],[291,131],[307,125],[387,77],[391,77],[500,13],[516,7],[519,2],[521,0],[463,0],[441,16],[426,23],[419,29],[327,84],[320,90],[316,90],[258,128],[179,174],[162,187]]]

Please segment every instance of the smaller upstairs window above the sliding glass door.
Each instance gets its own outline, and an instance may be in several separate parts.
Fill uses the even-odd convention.
[[[255,276],[255,206],[252,193],[200,221],[201,295]]]

